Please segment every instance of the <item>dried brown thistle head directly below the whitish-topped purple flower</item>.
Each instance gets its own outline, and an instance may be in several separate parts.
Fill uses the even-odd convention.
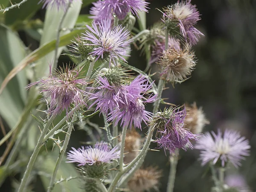
[[[195,67],[195,54],[190,51],[190,47],[185,49],[168,49],[158,61],[162,68],[161,79],[167,82],[182,82],[191,75]]]

